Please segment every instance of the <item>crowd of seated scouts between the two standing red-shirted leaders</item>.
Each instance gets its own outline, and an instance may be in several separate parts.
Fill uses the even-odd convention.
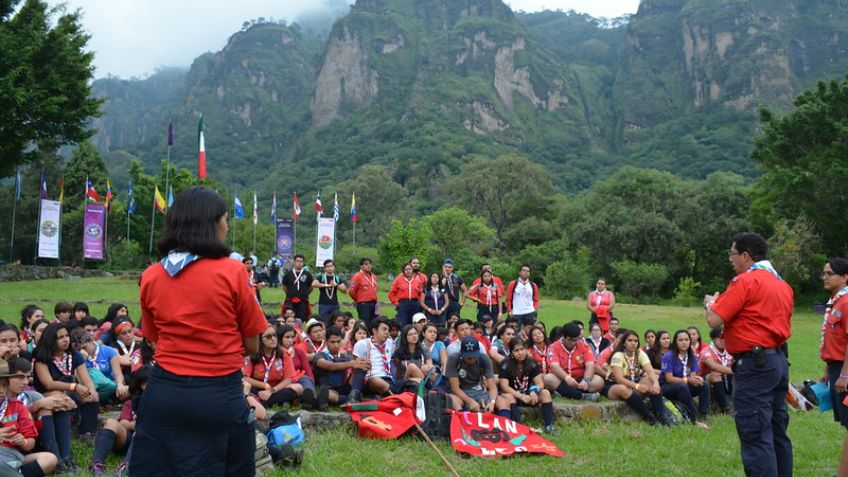
[[[729,409],[733,358],[721,330],[704,343],[697,328],[648,330],[644,346],[617,318],[546,329],[544,322],[452,314],[447,326],[419,313],[412,324],[379,316],[371,323],[350,313],[312,316],[300,323],[291,310],[268,316],[259,351],[245,360],[245,380],[265,405],[299,402],[306,409],[359,402],[405,390],[440,390],[454,410],[485,410],[523,421],[522,406],[540,406],[544,431],[555,432],[552,397],[625,401],[645,420],[668,424],[663,401],[708,428],[710,402]],[[604,326],[606,325],[606,326]],[[603,329],[607,328],[607,329]],[[697,397],[697,406],[693,398]],[[645,403],[650,402],[650,407]]]

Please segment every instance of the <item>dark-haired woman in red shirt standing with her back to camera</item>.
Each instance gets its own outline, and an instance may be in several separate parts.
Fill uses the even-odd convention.
[[[192,187],[165,215],[165,258],[141,276],[141,331],[156,366],[141,399],[131,475],[253,475],[244,356],[268,327],[244,265],[229,257],[227,203]]]

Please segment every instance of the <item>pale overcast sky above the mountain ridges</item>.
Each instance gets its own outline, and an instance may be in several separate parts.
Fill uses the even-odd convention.
[[[348,0],[353,3],[352,0]],[[50,1],[58,4],[59,1]],[[294,21],[319,7],[317,0],[65,0],[81,9],[92,38],[95,77],[146,76],[160,66],[189,66],[218,51],[245,20],[265,17]],[[635,13],[639,0],[507,0],[514,10],[575,10],[595,17]],[[313,6],[310,6],[313,5]]]

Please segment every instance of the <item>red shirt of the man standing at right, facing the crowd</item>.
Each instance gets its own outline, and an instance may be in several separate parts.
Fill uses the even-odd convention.
[[[718,296],[712,310],[724,319],[724,343],[731,354],[754,346],[776,348],[792,336],[792,288],[768,270],[740,273]]]

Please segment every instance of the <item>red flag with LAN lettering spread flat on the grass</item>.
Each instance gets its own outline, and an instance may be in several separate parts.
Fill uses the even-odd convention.
[[[527,426],[484,412],[455,412],[451,418],[451,444],[459,452],[484,457],[515,453],[565,454]]]

